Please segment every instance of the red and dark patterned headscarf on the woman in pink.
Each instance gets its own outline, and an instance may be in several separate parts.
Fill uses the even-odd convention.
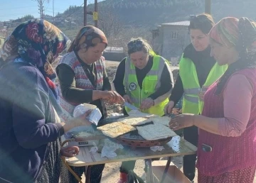
[[[229,65],[228,70],[218,80],[215,91],[218,95],[234,72],[245,68],[256,68],[256,23],[245,17],[223,18],[210,30],[209,35],[216,43],[235,47],[239,52],[238,61]]]

